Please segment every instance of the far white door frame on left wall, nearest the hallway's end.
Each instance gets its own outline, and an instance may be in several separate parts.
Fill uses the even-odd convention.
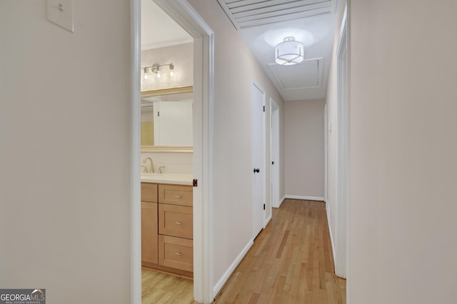
[[[271,206],[279,208],[279,106],[270,98],[270,166],[271,166]],[[273,164],[273,162],[275,162]],[[273,195],[274,194],[274,195]],[[275,197],[276,196],[276,197]]]

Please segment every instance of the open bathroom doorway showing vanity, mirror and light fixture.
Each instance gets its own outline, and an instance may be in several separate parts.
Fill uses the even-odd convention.
[[[162,187],[182,197],[192,191],[193,52],[194,38],[154,1],[141,0],[142,303],[194,298],[192,199],[161,204],[169,202],[161,199]],[[175,254],[165,254],[171,249]]]

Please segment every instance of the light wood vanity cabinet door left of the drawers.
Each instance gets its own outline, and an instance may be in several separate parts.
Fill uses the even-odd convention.
[[[157,203],[141,201],[141,261],[158,263]]]

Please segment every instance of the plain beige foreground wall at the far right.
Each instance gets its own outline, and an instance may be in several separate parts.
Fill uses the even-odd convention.
[[[351,0],[351,304],[456,302],[456,11]]]

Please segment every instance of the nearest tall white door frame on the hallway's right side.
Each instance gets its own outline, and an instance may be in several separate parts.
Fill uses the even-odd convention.
[[[346,278],[348,260],[348,208],[350,201],[348,39],[344,12],[337,58],[337,128],[336,128],[336,242],[335,273]]]

